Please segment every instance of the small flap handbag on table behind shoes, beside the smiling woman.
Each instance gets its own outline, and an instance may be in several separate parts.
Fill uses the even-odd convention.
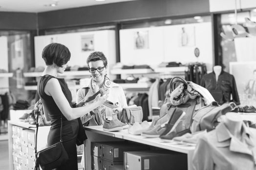
[[[123,123],[142,122],[143,112],[141,106],[125,107],[122,110],[120,121]]]

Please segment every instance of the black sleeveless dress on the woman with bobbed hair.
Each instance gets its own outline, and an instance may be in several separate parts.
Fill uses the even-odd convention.
[[[61,167],[57,170],[78,170],[77,165],[77,149],[76,149],[76,138],[78,134],[78,120],[70,120],[68,121],[64,115],[62,114],[61,110],[53,100],[51,96],[48,96],[44,93],[44,87],[46,83],[51,79],[55,78],[58,79],[62,91],[71,106],[72,96],[71,92],[68,89],[64,79],[56,78],[51,75],[45,75],[40,80],[39,85],[39,94],[40,98],[43,103],[44,113],[47,113],[49,118],[51,119],[51,128],[48,134],[48,145],[52,145],[60,141],[60,130],[61,130],[61,118],[62,118],[62,140],[64,148],[68,154],[68,161],[64,163]]]

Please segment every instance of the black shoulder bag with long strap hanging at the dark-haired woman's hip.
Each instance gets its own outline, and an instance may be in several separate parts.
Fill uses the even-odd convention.
[[[41,82],[40,82],[41,84]],[[39,84],[39,89],[40,89]],[[40,93],[39,93],[40,95]],[[36,163],[35,169],[39,170],[39,166],[42,170],[52,170],[55,168],[60,167],[64,162],[68,160],[68,155],[65,151],[62,141],[62,115],[61,115],[61,134],[60,134],[60,141],[45,148],[41,151],[37,152],[37,133],[38,133],[38,117],[37,117],[37,124],[36,124],[36,146],[35,146],[35,154],[36,154]]]

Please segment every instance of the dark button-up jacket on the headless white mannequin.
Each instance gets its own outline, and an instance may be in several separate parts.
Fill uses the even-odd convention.
[[[235,84],[235,77],[228,72],[222,70],[218,77],[218,81],[216,81],[214,72],[206,74],[203,76],[200,85],[208,89],[212,94],[214,94],[213,92],[215,92],[216,90],[221,90],[222,98],[217,101],[220,104],[223,104],[225,102],[235,102],[236,105],[240,104]],[[233,98],[232,100],[231,95]],[[216,97],[214,99],[216,100]]]

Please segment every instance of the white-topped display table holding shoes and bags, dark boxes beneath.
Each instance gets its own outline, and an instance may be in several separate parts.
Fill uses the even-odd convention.
[[[195,147],[186,146],[186,145],[178,145],[171,142],[163,142],[160,138],[146,138],[144,136],[136,136],[128,133],[127,129],[124,129],[119,132],[107,132],[104,131],[102,126],[87,126],[85,127],[85,133],[87,135],[87,139],[85,140],[85,167],[86,170],[91,170],[91,142],[94,141],[122,141],[128,140],[132,142],[137,142],[157,148],[162,148],[170,151],[175,151],[179,153],[187,154],[188,162],[188,170],[192,169],[192,156]]]

